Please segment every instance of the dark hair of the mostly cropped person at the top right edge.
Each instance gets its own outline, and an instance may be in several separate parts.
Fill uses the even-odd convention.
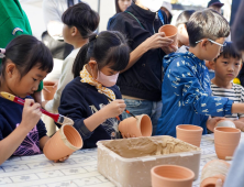
[[[240,52],[244,52],[244,1],[241,1],[239,11],[235,15],[235,21],[232,28],[232,41],[234,47]]]

